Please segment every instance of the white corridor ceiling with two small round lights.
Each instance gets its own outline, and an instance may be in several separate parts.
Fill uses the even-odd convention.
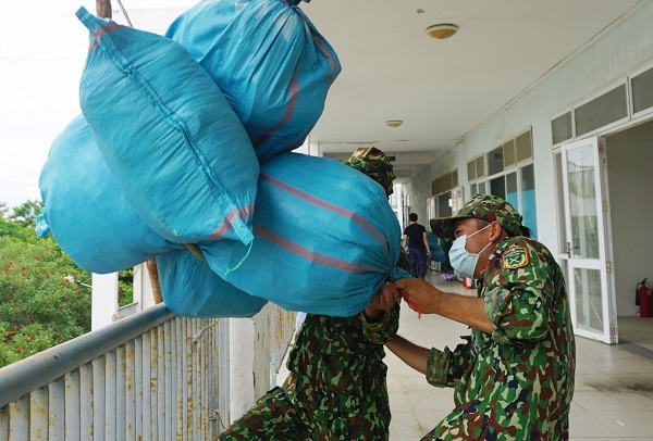
[[[650,1],[650,0],[644,0]],[[405,181],[640,0],[312,0],[300,3],[343,66],[310,134],[347,158],[375,146]],[[426,28],[456,24],[436,40]],[[387,119],[402,119],[397,128]]]

